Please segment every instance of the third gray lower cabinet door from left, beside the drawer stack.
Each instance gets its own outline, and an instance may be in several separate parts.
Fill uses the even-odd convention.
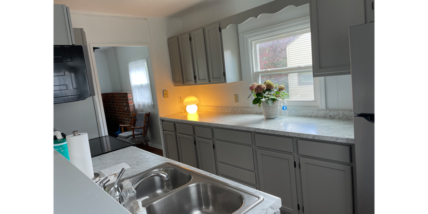
[[[196,151],[199,169],[217,175],[217,171],[215,170],[213,141],[196,138]]]

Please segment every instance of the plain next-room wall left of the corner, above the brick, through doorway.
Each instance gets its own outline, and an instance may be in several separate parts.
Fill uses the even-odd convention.
[[[94,55],[97,64],[98,80],[100,81],[101,93],[113,92],[111,89],[106,52],[95,51]]]

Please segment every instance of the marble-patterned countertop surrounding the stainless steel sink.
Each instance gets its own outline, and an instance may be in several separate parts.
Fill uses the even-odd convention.
[[[175,160],[170,160],[170,159],[161,157],[159,155],[152,154],[150,152],[144,151],[142,149],[139,149],[133,146],[92,158],[92,165],[93,165],[94,172],[98,172],[102,169],[105,169],[123,162],[127,163],[130,166],[130,168],[125,171],[122,178],[135,175],[137,173],[143,172],[145,170],[148,170],[152,167],[158,166],[165,162],[172,162],[177,165],[188,168],[190,170],[199,172],[201,174],[210,176],[212,178],[232,184],[241,189],[245,189],[249,192],[256,193],[263,196],[264,197],[263,201],[257,204],[249,212],[247,212],[247,214],[273,214],[281,207],[281,199],[279,197],[275,197],[275,196],[260,192],[248,186],[233,182],[229,179],[216,176],[214,174],[188,166],[186,164],[177,162]],[[110,182],[114,182],[115,180],[116,179],[113,178],[110,180]]]

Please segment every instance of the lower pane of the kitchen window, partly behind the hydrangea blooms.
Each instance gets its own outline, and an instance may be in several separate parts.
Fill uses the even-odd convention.
[[[260,75],[261,83],[272,81],[275,86],[284,85],[286,100],[314,100],[314,79],[312,72],[280,73]]]

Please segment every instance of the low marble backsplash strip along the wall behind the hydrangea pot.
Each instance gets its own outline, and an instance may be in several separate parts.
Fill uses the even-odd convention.
[[[213,107],[198,106],[198,111],[219,111],[236,114],[263,114],[263,108],[258,107]],[[289,109],[288,116],[330,118],[339,120],[353,120],[354,114],[350,110],[328,110],[328,109]]]

